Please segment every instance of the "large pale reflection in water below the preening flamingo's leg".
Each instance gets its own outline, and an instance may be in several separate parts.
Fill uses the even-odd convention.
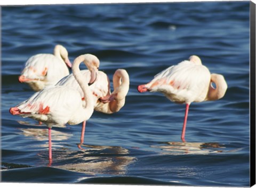
[[[137,159],[130,156],[130,151],[123,147],[89,146],[85,144],[83,146],[87,148],[83,149],[83,152],[63,151],[58,158],[62,161],[63,155],[70,156],[71,162],[56,167],[91,175],[125,175],[127,166]]]

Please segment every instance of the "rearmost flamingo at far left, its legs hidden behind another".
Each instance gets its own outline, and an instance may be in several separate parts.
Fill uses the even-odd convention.
[[[56,45],[53,54],[31,56],[19,76],[19,82],[25,82],[34,91],[40,91],[69,75],[68,67],[71,68],[71,63],[67,49]]]

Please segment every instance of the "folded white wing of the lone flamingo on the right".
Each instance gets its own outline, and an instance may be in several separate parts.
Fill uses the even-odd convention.
[[[209,83],[210,72],[205,66],[183,61],[158,73],[149,90],[162,92],[172,101],[190,103],[205,99]]]

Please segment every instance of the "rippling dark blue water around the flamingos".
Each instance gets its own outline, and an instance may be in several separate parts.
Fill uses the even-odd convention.
[[[2,7],[2,181],[249,186],[249,2],[91,4]],[[54,127],[47,167],[47,129],[9,108],[34,92],[18,82],[23,63],[52,53],[70,60],[99,57],[110,80],[130,75],[125,106],[94,112],[79,150],[81,124]],[[166,67],[190,55],[223,74],[222,99],[185,105],[160,93],[139,93]]]

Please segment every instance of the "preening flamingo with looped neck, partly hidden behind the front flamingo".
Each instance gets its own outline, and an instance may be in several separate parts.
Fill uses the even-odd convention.
[[[91,62],[95,62],[99,66],[99,59],[96,56],[91,55],[90,59]],[[83,74],[86,82],[88,82],[90,78],[96,77],[95,75],[92,76],[88,70],[83,70],[81,73]],[[110,93],[110,82],[108,76],[102,71],[99,71],[97,79],[95,79],[94,83],[90,86],[93,93],[94,110],[105,114],[118,112],[125,104],[125,97],[129,91],[129,84],[129,74],[124,69],[118,69],[113,75],[114,91]],[[84,93],[77,84],[73,74],[61,79],[56,85],[73,87],[81,94],[81,98],[83,100]],[[82,149],[81,145],[84,142],[85,125],[86,121],[83,122],[81,139],[78,144],[79,149]]]

